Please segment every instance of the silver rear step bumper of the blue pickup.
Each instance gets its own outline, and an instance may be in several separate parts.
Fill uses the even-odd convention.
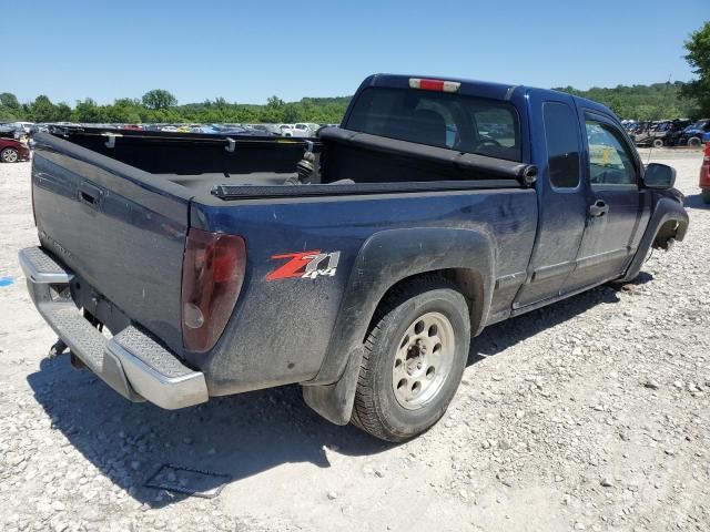
[[[106,339],[73,303],[73,273],[44,249],[22,249],[19,259],[30,296],[44,320],[115,391],[131,401],[148,400],[169,410],[209,399],[204,375],[184,366],[140,327],[131,325]]]

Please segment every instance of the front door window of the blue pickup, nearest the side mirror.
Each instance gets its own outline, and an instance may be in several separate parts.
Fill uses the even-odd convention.
[[[636,185],[633,157],[621,133],[604,122],[586,117],[591,185]]]

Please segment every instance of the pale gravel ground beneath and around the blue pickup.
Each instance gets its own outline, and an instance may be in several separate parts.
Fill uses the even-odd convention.
[[[487,329],[447,416],[403,446],[327,423],[297,387],[168,412],[45,359],[16,257],[37,242],[30,166],[0,165],[0,529],[709,530],[710,209],[699,152],[651,156],[678,168],[686,242],[626,289]],[[145,488],[164,463],[231,481]]]

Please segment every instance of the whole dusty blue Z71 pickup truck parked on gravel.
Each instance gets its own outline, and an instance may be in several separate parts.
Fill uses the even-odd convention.
[[[378,74],[313,139],[36,142],[20,263],[54,355],[166,409],[300,383],[389,441],[443,416],[484,327],[629,282],[688,227],[608,109],[526,86]]]

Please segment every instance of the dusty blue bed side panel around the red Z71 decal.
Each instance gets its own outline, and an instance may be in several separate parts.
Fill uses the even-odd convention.
[[[480,232],[494,245],[495,277],[504,277],[525,272],[536,223],[535,192],[515,188],[193,203],[192,226],[244,237],[247,266],[217,346],[190,359],[205,371],[211,395],[307,381],[326,357],[348,279],[358,275],[353,265],[369,237],[397,228]],[[339,252],[335,275],[266,280],[285,262],[274,256],[308,250]],[[390,285],[398,280],[387,275]],[[515,290],[508,291],[511,298]]]

